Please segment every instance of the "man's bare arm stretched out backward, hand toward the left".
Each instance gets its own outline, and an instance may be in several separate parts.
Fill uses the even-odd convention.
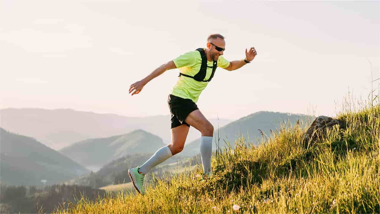
[[[152,73],[150,73],[146,78],[137,81],[129,87],[129,93],[132,92],[131,95],[138,94],[141,92],[142,88],[152,79],[156,78],[157,76],[160,76],[163,74],[165,71],[177,68],[176,65],[174,64],[173,60],[161,65],[160,67],[156,68]]]

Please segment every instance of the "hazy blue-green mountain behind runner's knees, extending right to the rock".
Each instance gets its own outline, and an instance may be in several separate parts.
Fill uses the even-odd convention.
[[[291,124],[295,124],[297,120],[303,121],[306,120],[306,118],[309,118],[308,121],[310,123],[313,121],[313,116],[307,116],[304,114],[291,114],[291,113],[279,113],[279,112],[270,112],[270,111],[259,111],[253,114],[250,114],[249,116],[242,117],[239,120],[236,120],[234,122],[231,122],[222,128],[219,128],[219,131],[216,127],[214,127],[215,134],[213,138],[212,143],[212,151],[216,151],[216,142],[218,139],[215,138],[215,135],[220,137],[219,146],[225,147],[226,142],[230,142],[231,147],[234,147],[234,142],[238,137],[244,136],[247,141],[250,143],[255,143],[255,139],[260,139],[261,134],[258,131],[260,129],[263,133],[265,133],[267,136],[270,136],[270,130],[272,129],[275,131],[276,129],[280,128],[280,124],[286,123],[287,120],[291,122]],[[305,121],[306,122],[306,121]],[[185,145],[184,150],[180,152],[180,155],[184,156],[193,156],[198,153],[199,151],[199,145],[200,145],[201,139],[198,138],[188,144]],[[247,145],[248,146],[248,145]]]

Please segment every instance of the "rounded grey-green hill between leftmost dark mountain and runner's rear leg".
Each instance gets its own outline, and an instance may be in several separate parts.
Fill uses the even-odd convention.
[[[125,155],[154,153],[163,146],[160,137],[138,129],[124,135],[79,141],[59,152],[87,168],[100,168]]]

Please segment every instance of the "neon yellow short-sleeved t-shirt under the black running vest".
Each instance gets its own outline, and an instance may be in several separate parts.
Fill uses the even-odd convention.
[[[173,60],[179,71],[185,75],[195,76],[201,68],[202,58],[199,51],[190,51],[183,55],[180,55]],[[212,67],[212,61],[207,60],[207,66]],[[226,60],[222,55],[218,58],[218,67],[226,68],[230,65],[230,62]],[[206,77],[203,80],[208,80],[212,73],[212,68],[207,67]],[[215,71],[216,72],[216,71]],[[215,78],[215,76],[214,76]],[[171,90],[170,94],[181,97],[184,99],[191,99],[196,103],[199,95],[206,88],[209,82],[198,82],[193,78],[180,76],[176,85]]]

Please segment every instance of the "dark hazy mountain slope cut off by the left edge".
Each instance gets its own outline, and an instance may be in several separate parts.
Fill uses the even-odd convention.
[[[58,184],[89,170],[33,138],[0,128],[1,183],[5,185]]]

